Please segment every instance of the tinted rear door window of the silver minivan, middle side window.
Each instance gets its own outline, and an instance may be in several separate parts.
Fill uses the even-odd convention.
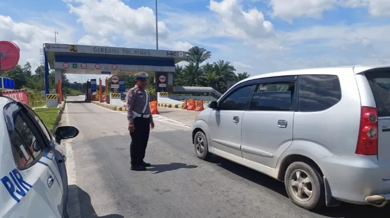
[[[253,94],[249,110],[291,111],[293,110],[295,81],[259,84]]]

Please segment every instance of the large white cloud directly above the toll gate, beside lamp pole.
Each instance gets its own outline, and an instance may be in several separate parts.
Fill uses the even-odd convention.
[[[118,36],[133,42],[152,41],[155,34],[155,15],[152,9],[132,9],[120,0],[67,0],[69,12],[78,17],[84,30],[101,37]],[[165,23],[159,21],[159,37],[169,34]]]

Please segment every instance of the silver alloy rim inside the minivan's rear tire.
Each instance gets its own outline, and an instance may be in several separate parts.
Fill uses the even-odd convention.
[[[309,174],[302,169],[296,169],[290,175],[289,187],[294,196],[306,202],[313,196],[313,184]]]

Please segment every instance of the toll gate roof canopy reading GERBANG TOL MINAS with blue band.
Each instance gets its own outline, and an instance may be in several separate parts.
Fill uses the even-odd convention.
[[[117,48],[68,44],[44,44],[45,91],[49,94],[49,68],[55,81],[67,74],[132,75],[140,71],[174,72],[175,64],[187,60],[184,51]]]

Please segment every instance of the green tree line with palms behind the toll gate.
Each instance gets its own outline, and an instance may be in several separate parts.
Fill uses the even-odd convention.
[[[217,62],[206,62],[211,58],[211,52],[204,48],[192,47],[187,52],[187,64],[185,66],[175,66],[173,72],[173,85],[180,86],[209,86],[220,93],[227,89],[227,82],[238,82],[249,77],[246,72],[237,73],[229,61],[219,60]],[[203,65],[202,65],[203,64]],[[2,72],[3,77],[9,77],[15,82],[15,89],[31,89],[34,91],[45,90],[44,67],[40,66],[32,73],[32,67],[29,62],[21,66],[17,64],[15,68]],[[133,87],[135,77],[133,75],[120,76],[125,80],[126,89]],[[54,71],[49,73],[49,89],[54,89]],[[66,75],[62,75],[62,85],[65,94],[76,94],[85,92],[85,82],[70,82]],[[149,76],[149,91],[154,90],[154,78]],[[105,81],[103,81],[103,84]],[[110,85],[110,80],[109,80]],[[103,89],[104,90],[104,89]]]

